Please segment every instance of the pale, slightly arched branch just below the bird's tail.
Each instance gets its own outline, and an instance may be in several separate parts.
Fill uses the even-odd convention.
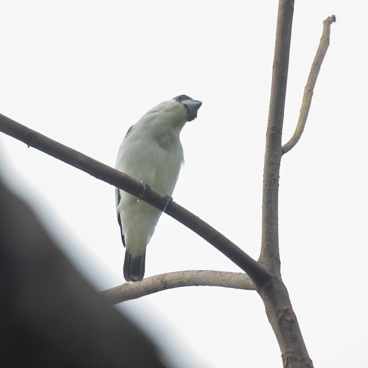
[[[182,286],[222,286],[233,289],[255,290],[251,279],[245,273],[192,270],[163,273],[146,277],[141,282],[125,283],[105,291],[101,295],[110,304],[157,293],[158,291],[174,289]]]

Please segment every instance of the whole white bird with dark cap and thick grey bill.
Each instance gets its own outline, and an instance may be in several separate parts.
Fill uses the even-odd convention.
[[[149,110],[125,135],[116,169],[171,196],[184,162],[179,134],[187,121],[197,117],[201,105],[201,101],[180,95]],[[141,281],[146,246],[162,212],[123,190],[116,188],[115,192],[121,240],[126,249],[124,278]]]

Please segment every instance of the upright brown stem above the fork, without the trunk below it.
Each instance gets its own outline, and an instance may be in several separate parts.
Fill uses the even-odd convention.
[[[266,133],[265,165],[263,168],[262,247],[259,260],[266,263],[272,262],[270,266],[277,273],[280,273],[278,192],[282,156],[281,133],[284,119],[293,12],[293,0],[279,1],[270,109]]]

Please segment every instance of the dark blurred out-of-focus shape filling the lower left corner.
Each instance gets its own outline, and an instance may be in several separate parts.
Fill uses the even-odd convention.
[[[0,367],[163,368],[0,180]]]

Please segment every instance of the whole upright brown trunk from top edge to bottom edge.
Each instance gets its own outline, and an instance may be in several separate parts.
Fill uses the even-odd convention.
[[[258,294],[265,304],[268,320],[282,353],[284,368],[312,368],[297,317],[280,274],[278,195],[282,156],[281,134],[284,118],[287,72],[293,22],[294,1],[279,0],[275,57],[272,70],[270,109],[266,132],[263,171],[262,246],[259,262],[273,275],[261,284],[255,280]]]

